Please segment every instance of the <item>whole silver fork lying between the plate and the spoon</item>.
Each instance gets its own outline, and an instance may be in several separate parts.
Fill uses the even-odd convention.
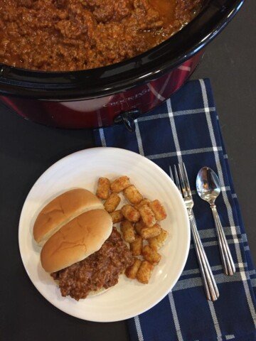
[[[171,180],[174,181],[174,176],[171,171],[171,166],[169,166]],[[198,258],[198,264],[201,271],[201,276],[203,278],[203,286],[206,291],[206,297],[209,301],[216,301],[220,296],[218,292],[218,287],[213,277],[213,272],[210,269],[210,265],[206,256],[206,252],[203,249],[203,244],[196,228],[196,224],[193,218],[193,197],[191,194],[191,188],[188,182],[188,174],[186,172],[185,164],[178,164],[178,172],[176,166],[174,166],[175,181],[178,190],[183,197],[183,200],[188,211],[189,222],[191,226],[191,232],[193,236],[193,242],[195,244],[196,254]],[[179,180],[180,179],[180,180]]]

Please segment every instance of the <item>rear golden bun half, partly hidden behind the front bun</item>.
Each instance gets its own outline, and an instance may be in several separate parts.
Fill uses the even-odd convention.
[[[48,203],[36,218],[33,237],[43,244],[63,225],[84,212],[104,208],[102,202],[89,190],[75,188],[68,190]]]

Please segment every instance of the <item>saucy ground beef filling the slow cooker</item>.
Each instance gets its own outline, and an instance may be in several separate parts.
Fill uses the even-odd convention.
[[[203,0],[1,0],[0,63],[85,70],[132,58],[196,15]]]

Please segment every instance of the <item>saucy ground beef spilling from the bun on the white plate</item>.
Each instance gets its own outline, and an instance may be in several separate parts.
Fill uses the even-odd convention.
[[[99,251],[68,268],[53,272],[51,276],[58,280],[62,296],[69,295],[78,301],[86,298],[90,291],[117,284],[119,274],[131,264],[132,253],[113,227]]]

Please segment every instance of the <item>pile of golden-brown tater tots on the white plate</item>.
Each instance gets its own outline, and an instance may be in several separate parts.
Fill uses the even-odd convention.
[[[116,210],[121,201],[120,193],[129,203]],[[113,224],[120,222],[124,241],[129,243],[134,256],[134,263],[125,271],[126,276],[149,283],[154,266],[161,259],[158,251],[169,235],[159,224],[166,218],[164,206],[159,200],[143,197],[126,175],[112,183],[108,178],[99,178],[96,195],[105,200],[105,210],[110,213]]]

